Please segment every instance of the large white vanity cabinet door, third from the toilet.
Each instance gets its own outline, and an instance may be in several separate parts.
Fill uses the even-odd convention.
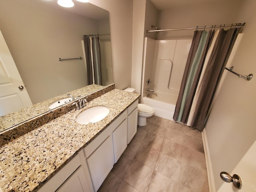
[[[87,158],[94,190],[97,191],[114,165],[112,136],[104,142]]]

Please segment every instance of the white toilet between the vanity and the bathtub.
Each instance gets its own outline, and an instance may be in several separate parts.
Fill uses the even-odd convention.
[[[135,92],[134,88],[126,88],[124,91]],[[147,124],[147,118],[154,114],[154,109],[145,104],[138,104],[138,125],[145,126]]]

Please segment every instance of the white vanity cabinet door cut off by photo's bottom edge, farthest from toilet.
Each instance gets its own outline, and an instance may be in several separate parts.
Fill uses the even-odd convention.
[[[82,166],[80,166],[56,192],[88,192],[90,188],[86,182],[86,176]]]

